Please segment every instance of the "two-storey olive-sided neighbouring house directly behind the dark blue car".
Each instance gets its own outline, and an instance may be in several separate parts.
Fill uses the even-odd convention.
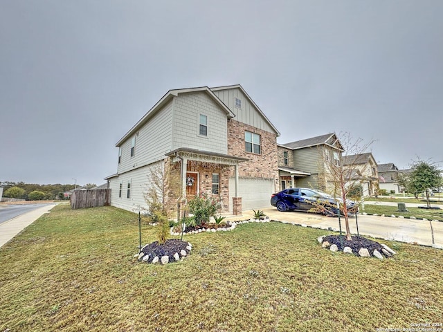
[[[311,187],[332,191],[334,181],[329,165],[339,165],[343,151],[335,133],[278,144],[280,190]]]

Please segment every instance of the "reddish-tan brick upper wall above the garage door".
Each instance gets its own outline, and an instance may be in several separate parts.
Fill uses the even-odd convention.
[[[260,135],[262,154],[246,152],[245,131]],[[239,164],[239,176],[274,178],[275,190],[278,189],[278,149],[275,133],[257,129],[233,119],[228,120],[228,154],[249,159]],[[230,169],[229,176],[234,176],[233,167]]]

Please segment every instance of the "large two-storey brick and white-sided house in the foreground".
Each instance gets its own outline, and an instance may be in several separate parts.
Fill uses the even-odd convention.
[[[270,206],[278,189],[280,133],[242,86],[170,90],[117,143],[111,205],[146,207],[158,166],[181,180],[182,199],[209,192],[224,212]]]

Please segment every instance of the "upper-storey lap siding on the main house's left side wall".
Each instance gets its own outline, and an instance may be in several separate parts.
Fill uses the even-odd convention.
[[[135,133],[123,142],[118,174],[161,160],[171,151],[172,107],[171,101],[138,130],[138,135]],[[135,155],[131,157],[133,137],[136,138]]]

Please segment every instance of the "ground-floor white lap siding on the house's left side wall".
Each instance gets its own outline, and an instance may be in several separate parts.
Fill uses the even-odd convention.
[[[111,188],[111,205],[132,212],[138,212],[141,207],[147,208],[144,194],[150,185],[148,176],[150,176],[152,169],[163,164],[164,161],[161,160],[157,163],[152,163],[145,167],[134,169],[132,172],[111,178],[109,181],[109,187]],[[120,183],[122,184],[121,197],[119,197]],[[127,198],[128,183],[131,183],[129,199]]]

